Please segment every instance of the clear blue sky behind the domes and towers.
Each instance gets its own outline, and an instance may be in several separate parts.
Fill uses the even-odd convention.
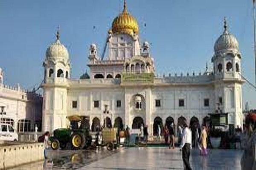
[[[37,87],[43,79],[47,46],[61,27],[61,42],[72,63],[72,78],[87,69],[88,47],[102,51],[123,0],[0,0],[0,67],[5,84]],[[199,73],[211,65],[223,18],[239,41],[242,71],[254,80],[252,0],[127,0],[140,25],[140,40],[152,43],[159,74]],[[144,26],[146,23],[146,27]],[[93,30],[93,26],[96,29]],[[256,108],[256,90],[243,85],[243,102]]]

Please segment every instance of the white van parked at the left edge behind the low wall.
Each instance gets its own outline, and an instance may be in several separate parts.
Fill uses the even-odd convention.
[[[10,124],[0,124],[0,141],[18,141],[19,136]]]

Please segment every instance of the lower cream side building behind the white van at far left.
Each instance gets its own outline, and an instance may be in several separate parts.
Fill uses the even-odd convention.
[[[13,125],[18,132],[30,132],[42,127],[43,98],[35,92],[3,84],[3,71],[0,68],[0,107],[4,107],[4,114],[0,114],[2,123]],[[1,112],[1,110],[0,110]]]

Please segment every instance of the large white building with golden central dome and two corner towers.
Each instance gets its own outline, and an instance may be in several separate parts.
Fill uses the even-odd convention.
[[[194,119],[202,124],[218,105],[218,110],[229,113],[229,124],[242,125],[241,54],[226,21],[214,45],[214,70],[202,75],[156,77],[149,43],[141,43],[138,33],[137,20],[125,3],[108,31],[105,58],[92,43],[88,51],[90,74],[70,79],[69,53],[57,32],[44,61],[44,130],[67,127],[66,116],[79,114],[90,116],[92,130],[108,117],[107,125],[122,122],[137,128],[143,123],[153,134],[154,123],[177,125],[180,119]]]

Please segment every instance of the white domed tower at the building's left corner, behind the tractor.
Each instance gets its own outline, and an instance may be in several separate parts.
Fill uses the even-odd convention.
[[[66,127],[67,88],[70,79],[70,61],[67,48],[61,44],[59,30],[56,40],[46,51],[44,66],[43,130],[52,132]]]

